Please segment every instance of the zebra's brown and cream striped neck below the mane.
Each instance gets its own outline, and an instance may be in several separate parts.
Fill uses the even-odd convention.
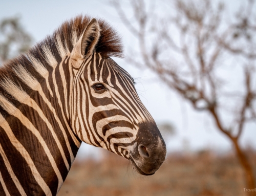
[[[11,179],[26,174],[26,180],[13,181],[22,195],[23,191],[32,194],[26,192],[31,187],[25,188],[31,184],[39,185],[33,187],[36,194],[42,191],[54,195],[66,179],[81,142],[69,122],[68,91],[72,91],[72,80],[65,64],[67,58],[49,71],[39,61],[30,60],[39,77],[19,65],[13,69],[17,80],[6,77],[1,82],[0,162],[6,167],[0,171],[6,173],[3,178]],[[23,174],[15,167],[14,159],[22,163]]]

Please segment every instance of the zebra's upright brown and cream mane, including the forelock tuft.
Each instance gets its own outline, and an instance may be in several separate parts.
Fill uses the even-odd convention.
[[[24,92],[30,94],[40,78],[44,78],[61,59],[72,52],[91,19],[87,15],[78,15],[65,21],[52,35],[37,43],[27,53],[20,54],[0,66],[0,106],[7,105],[3,102],[6,98],[12,103],[21,98],[26,99]],[[102,19],[98,19],[98,24],[100,38],[95,51],[102,55],[122,57],[121,39],[116,31]],[[10,113],[8,108],[6,111]]]

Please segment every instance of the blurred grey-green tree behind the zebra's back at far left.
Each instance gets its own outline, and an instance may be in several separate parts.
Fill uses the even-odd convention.
[[[26,52],[32,37],[20,24],[19,17],[4,18],[0,21],[0,63]]]

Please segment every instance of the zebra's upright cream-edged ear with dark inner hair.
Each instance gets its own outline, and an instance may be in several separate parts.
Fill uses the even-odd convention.
[[[87,59],[93,53],[99,37],[99,24],[93,18],[71,52],[70,58],[74,67],[80,67],[78,61]]]

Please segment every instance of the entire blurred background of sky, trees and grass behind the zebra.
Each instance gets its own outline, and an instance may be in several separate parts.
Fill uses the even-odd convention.
[[[0,63],[78,14],[121,35],[129,72],[167,145],[151,177],[82,143],[58,195],[255,195],[254,1],[3,1]]]

